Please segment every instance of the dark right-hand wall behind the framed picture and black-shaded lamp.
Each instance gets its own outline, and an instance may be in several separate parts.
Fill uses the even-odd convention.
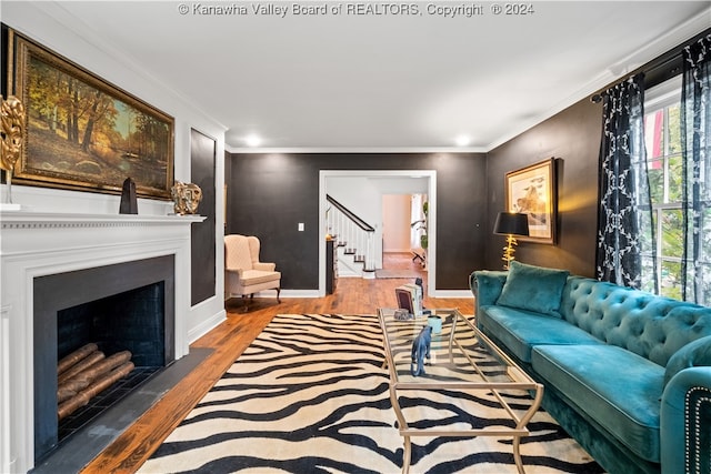
[[[489,230],[493,229],[497,213],[504,210],[505,173],[551,157],[557,159],[557,243],[520,242],[515,251],[518,261],[594,275],[601,133],[602,105],[582,100],[488,153]],[[502,235],[490,233],[487,269],[502,268],[503,245]]]

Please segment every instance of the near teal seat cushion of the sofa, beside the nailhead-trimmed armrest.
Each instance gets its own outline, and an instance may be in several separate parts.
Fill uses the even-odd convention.
[[[640,457],[660,460],[664,367],[607,344],[538,345],[533,370]]]

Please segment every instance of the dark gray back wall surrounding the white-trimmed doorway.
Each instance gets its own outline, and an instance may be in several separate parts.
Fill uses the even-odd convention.
[[[234,153],[227,160],[227,233],[259,236],[261,260],[277,263],[286,290],[319,286],[321,170],[435,170],[437,290],[467,289],[469,274],[483,266],[483,153]]]

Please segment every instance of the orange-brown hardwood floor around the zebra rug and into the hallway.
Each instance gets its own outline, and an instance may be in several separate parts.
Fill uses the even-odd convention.
[[[421,271],[420,265],[411,262],[411,255],[407,253],[385,254],[383,266],[389,269],[411,268]],[[282,299],[281,303],[277,303],[277,300],[272,299],[254,299],[247,313],[242,311],[240,300],[229,300],[227,302],[227,321],[190,345],[191,347],[212,349],[211,355],[122,433],[82,472],[136,472],[276,314],[373,314],[377,307],[393,306],[395,304],[394,289],[404,283],[412,283],[412,281],[409,279],[339,279],[336,292],[324,297]],[[473,297],[425,297],[424,306],[432,309],[459,307],[464,314],[473,314],[474,311]]]

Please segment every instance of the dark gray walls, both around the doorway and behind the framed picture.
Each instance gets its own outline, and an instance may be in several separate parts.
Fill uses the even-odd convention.
[[[600,104],[580,101],[481,153],[228,154],[228,233],[259,235],[262,260],[277,262],[282,288],[318,288],[320,170],[437,170],[437,290],[465,290],[474,270],[500,270],[504,175],[555,158],[555,244],[520,242],[517,260],[594,275]],[[297,231],[306,223],[306,232]]]

